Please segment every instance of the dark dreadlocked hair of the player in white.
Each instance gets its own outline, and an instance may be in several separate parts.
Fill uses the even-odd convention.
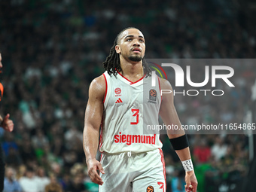
[[[127,27],[126,29],[136,29],[135,27]],[[117,72],[122,72],[121,66],[120,66],[120,58],[119,54],[115,51],[115,46],[117,45],[118,38],[122,32],[124,32],[126,29],[123,29],[120,33],[118,33],[117,37],[114,39],[114,44],[110,49],[110,53],[105,59],[105,62],[103,63],[104,69],[108,72],[109,75],[113,74],[114,76],[117,75]],[[148,66],[148,62],[146,62],[145,58],[142,59],[142,66],[144,69],[144,73],[146,74],[146,77],[151,76],[151,68]]]

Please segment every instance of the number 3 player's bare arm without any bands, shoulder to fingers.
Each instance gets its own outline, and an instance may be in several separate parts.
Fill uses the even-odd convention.
[[[87,162],[88,175],[96,184],[103,184],[97,169],[105,173],[102,164],[96,160],[99,146],[99,127],[103,114],[103,99],[105,96],[105,78],[103,75],[95,78],[90,84],[89,99],[84,117],[83,147]]]

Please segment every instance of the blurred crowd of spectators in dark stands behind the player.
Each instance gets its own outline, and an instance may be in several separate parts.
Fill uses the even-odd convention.
[[[10,0],[0,1],[0,18],[2,114],[15,124],[13,133],[1,132],[5,191],[98,191],[82,148],[84,109],[90,81],[104,72],[102,62],[123,28],[143,32],[146,59],[255,56],[254,29],[236,1]],[[256,69],[233,69],[236,88],[224,87],[224,97],[175,96],[182,123],[243,122]],[[167,191],[182,191],[181,163],[167,137],[161,139]],[[225,191],[246,175],[245,134],[189,139],[198,191]]]

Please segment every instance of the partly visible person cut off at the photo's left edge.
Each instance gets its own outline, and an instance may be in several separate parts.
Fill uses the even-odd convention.
[[[2,68],[2,55],[0,53],[0,68]],[[4,93],[4,87],[0,83],[0,104],[2,102],[2,96]],[[8,131],[11,132],[14,130],[14,123],[12,120],[9,119],[10,114],[7,114],[5,118],[3,119],[0,115],[0,126]],[[4,153],[2,150],[2,146],[0,146],[0,191],[4,190],[4,180],[5,180],[5,161],[4,161]]]

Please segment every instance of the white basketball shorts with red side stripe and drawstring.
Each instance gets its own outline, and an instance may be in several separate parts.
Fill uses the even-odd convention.
[[[102,153],[99,192],[165,192],[166,170],[163,151],[155,149],[139,154]]]

